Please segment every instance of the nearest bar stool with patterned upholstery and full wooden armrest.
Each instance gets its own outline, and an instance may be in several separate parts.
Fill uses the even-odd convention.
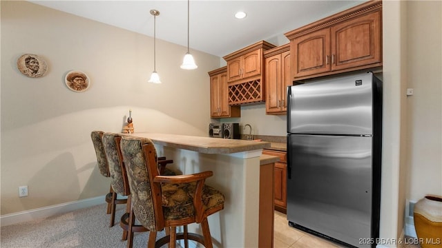
[[[161,247],[169,243],[174,248],[176,240],[200,242],[213,247],[207,216],[224,209],[224,195],[204,180],[213,172],[200,172],[180,176],[160,176],[157,170],[157,153],[151,140],[123,136],[120,142],[131,187],[133,211],[137,220],[150,230],[148,247]],[[200,223],[202,236],[187,231],[187,225]],[[176,227],[183,226],[177,234]],[[166,229],[164,238],[157,231]]]

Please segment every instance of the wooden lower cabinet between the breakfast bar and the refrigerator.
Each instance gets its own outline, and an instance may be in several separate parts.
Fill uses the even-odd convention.
[[[262,154],[278,156],[279,162],[273,167],[275,210],[287,213],[287,152],[263,149]]]

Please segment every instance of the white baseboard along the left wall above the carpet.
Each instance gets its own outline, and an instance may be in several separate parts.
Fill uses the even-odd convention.
[[[5,214],[0,216],[0,226],[6,227],[7,225],[22,223],[29,220],[37,220],[39,218],[46,218],[49,216],[54,216],[55,214],[64,214],[68,211],[74,211],[84,207],[92,207],[106,203],[104,198],[105,196],[97,196],[84,200],[75,200],[69,203],[61,203],[48,207],[39,207],[37,209],[20,211],[13,214]]]

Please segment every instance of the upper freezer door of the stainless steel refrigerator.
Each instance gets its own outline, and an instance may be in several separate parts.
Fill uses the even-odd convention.
[[[290,86],[287,132],[371,135],[372,85],[363,73]]]

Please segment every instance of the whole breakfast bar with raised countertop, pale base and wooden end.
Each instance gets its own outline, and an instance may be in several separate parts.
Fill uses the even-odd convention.
[[[273,163],[262,155],[269,142],[176,134],[128,134],[150,138],[158,156],[173,159],[182,174],[212,171],[206,184],[224,194],[224,209],[209,216],[213,247],[273,247]],[[178,230],[182,231],[182,230]],[[199,225],[189,231],[200,233]]]

